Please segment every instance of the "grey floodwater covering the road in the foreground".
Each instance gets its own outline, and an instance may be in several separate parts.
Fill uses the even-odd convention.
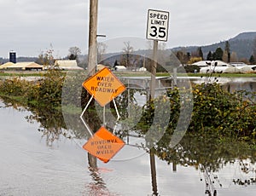
[[[27,120],[33,115],[22,107],[6,107],[0,101],[1,196],[153,194],[149,155],[143,149],[125,145],[108,164],[97,161],[94,170],[88,164],[87,152],[81,147],[85,139],[68,139],[60,134],[55,141],[49,142],[49,135],[39,131],[42,124]],[[255,158],[255,153],[250,157],[242,149],[236,150],[234,158],[228,150],[217,153],[217,145],[204,149],[207,143],[199,147],[206,153],[205,156],[199,154],[199,160],[216,153],[217,157],[211,160],[216,170],[201,170],[201,163],[168,164],[155,157],[159,195],[200,196],[208,195],[208,189],[216,190],[216,195],[255,195],[256,165],[250,159]],[[191,149],[194,149],[193,144],[193,140],[189,141]],[[185,141],[181,145],[186,151]],[[224,163],[226,157],[232,161]],[[244,183],[248,180],[250,183]]]

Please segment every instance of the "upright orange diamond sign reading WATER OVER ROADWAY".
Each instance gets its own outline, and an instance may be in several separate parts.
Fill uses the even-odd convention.
[[[107,67],[85,80],[83,86],[102,107],[125,91],[125,85]]]

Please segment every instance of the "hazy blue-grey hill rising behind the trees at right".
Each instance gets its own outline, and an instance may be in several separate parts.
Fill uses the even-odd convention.
[[[256,32],[242,32],[236,37],[230,38],[220,43],[213,43],[206,46],[188,46],[173,48],[172,51],[185,50],[186,52],[194,52],[201,47],[204,57],[207,57],[209,51],[214,52],[218,47],[224,49],[225,42],[229,41],[231,52],[236,52],[238,58],[247,58],[253,54],[253,41],[256,38]]]

